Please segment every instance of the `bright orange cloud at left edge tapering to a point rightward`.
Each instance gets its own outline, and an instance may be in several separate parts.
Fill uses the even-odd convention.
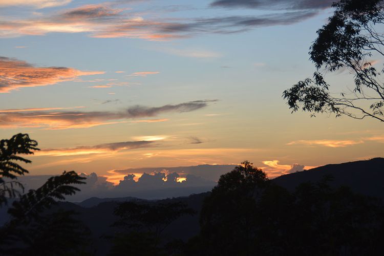
[[[79,76],[103,73],[64,67],[35,67],[26,61],[0,56],[0,93],[8,93],[24,87],[49,86],[74,80]]]

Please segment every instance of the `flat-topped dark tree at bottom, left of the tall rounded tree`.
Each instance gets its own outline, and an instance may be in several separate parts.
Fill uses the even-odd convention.
[[[193,215],[195,211],[182,202],[124,202],[116,207],[114,214],[119,220],[113,226],[123,231],[116,232],[113,237],[112,255],[164,255],[165,248],[160,245],[162,232],[176,219]],[[177,246],[168,244],[167,249],[169,247]]]

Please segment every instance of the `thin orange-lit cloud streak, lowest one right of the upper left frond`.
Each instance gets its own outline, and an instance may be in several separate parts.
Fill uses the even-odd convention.
[[[135,148],[150,147],[153,141],[125,141],[98,144],[94,146],[77,146],[67,148],[45,148],[36,152],[36,156],[81,156],[91,154],[105,154],[124,150],[133,150]]]

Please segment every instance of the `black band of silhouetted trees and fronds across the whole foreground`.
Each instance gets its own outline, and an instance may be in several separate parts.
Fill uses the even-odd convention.
[[[87,210],[57,202],[85,182],[75,172],[64,172],[23,192],[17,177],[28,170],[18,163],[30,161],[20,155],[35,150],[37,142],[26,134],[0,141],[0,203],[8,205],[11,217],[0,228],[1,255],[381,255],[383,251],[381,199],[338,186],[327,175],[287,189],[287,176],[269,180],[245,161],[222,175],[210,193],[158,201],[130,198]],[[296,175],[297,182],[301,174],[291,177]]]

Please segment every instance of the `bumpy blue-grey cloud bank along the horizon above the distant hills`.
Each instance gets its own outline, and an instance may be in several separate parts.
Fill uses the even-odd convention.
[[[113,185],[106,177],[95,173],[81,174],[87,178],[87,184],[78,186],[81,191],[67,197],[70,202],[81,202],[91,197],[124,198],[135,197],[148,200],[159,200],[169,197],[186,197],[191,194],[210,191],[217,183],[220,175],[230,172],[234,165],[197,165],[179,167],[148,167],[125,170],[115,170],[122,175],[119,184]],[[134,179],[135,173],[143,174]],[[26,190],[36,189],[51,177],[21,176],[19,181]],[[177,182],[179,177],[186,180]]]

